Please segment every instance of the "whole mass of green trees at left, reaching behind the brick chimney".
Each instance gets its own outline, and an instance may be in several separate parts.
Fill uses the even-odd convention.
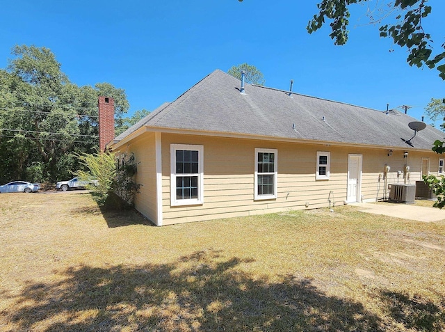
[[[111,84],[77,86],[46,47],[15,46],[0,70],[0,182],[54,182],[78,168],[72,152],[98,145],[97,97],[115,100],[119,125],[129,109],[124,90]]]

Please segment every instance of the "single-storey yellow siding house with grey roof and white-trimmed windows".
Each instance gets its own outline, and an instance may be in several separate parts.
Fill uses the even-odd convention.
[[[134,155],[135,207],[163,226],[385,200],[389,184],[444,171],[443,132],[410,122],[216,70],[108,148]]]

